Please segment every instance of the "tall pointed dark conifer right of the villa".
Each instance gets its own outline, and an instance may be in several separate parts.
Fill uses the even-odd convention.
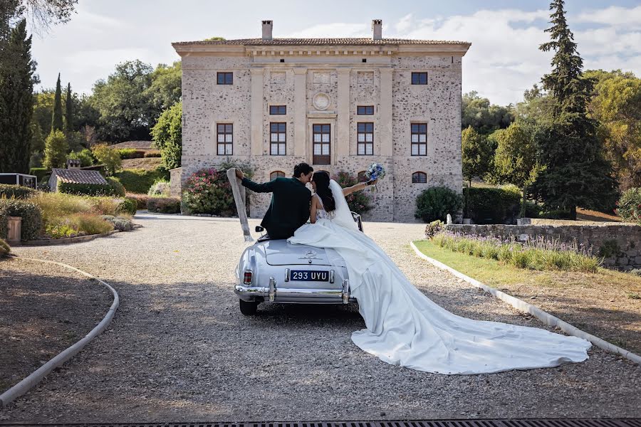
[[[542,51],[555,51],[552,72],[544,75],[543,88],[553,96],[552,123],[538,144],[543,171],[533,194],[548,209],[563,209],[576,218],[576,207],[611,209],[616,199],[612,167],[603,157],[597,123],[587,115],[593,80],[583,77],[583,60],[568,28],[563,0],[550,4],[552,41]]]

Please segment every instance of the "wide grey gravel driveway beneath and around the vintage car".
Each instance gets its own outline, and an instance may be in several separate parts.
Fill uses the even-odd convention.
[[[237,221],[140,214],[140,228],[88,243],[18,248],[108,281],[108,331],[0,413],[5,421],[151,422],[641,416],[641,367],[593,349],[553,369],[445,376],[390,366],[350,340],[355,307],[238,310]],[[252,226],[257,221],[251,221]],[[419,260],[420,224],[365,223],[421,290],[481,320],[542,324]],[[108,307],[105,306],[105,311]]]

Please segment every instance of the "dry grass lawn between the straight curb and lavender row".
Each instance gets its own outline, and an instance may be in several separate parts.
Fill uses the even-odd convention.
[[[454,270],[641,354],[639,276],[605,268],[598,273],[526,270],[496,260],[455,253],[429,241],[414,243],[419,251]]]

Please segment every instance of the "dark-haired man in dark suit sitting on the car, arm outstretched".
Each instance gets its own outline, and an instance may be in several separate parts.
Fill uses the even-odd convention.
[[[278,177],[264,184],[245,178],[240,169],[236,176],[242,179],[243,186],[256,193],[271,193],[269,209],[261,222],[271,239],[290,238],[294,231],[309,218],[311,191],[305,184],[311,181],[314,169],[299,163],[294,167],[293,178]]]

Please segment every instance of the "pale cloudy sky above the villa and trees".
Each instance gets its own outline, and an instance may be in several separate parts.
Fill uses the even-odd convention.
[[[494,104],[523,100],[523,91],[551,70],[549,1],[368,0],[219,1],[79,0],[70,22],[33,36],[40,88],[58,73],[74,92],[90,93],[115,65],[140,59],[155,66],[179,60],[174,41],[212,36],[256,38],[261,20],[278,37],[370,37],[382,19],[384,38],[468,41],[463,92],[476,90]],[[638,0],[566,0],[567,19],[584,69],[632,71],[641,76]]]

